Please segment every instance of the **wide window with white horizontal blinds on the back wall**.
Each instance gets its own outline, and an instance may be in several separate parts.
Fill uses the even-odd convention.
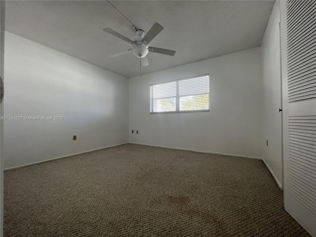
[[[209,111],[209,75],[150,85],[150,113]]]

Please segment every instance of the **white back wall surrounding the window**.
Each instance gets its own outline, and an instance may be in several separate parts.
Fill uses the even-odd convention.
[[[129,141],[260,158],[260,53],[257,47],[129,79]],[[206,73],[210,112],[149,113],[150,84]]]

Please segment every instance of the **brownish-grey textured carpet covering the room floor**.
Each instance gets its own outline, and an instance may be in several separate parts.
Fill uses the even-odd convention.
[[[5,237],[303,237],[261,160],[133,144],[4,173]]]

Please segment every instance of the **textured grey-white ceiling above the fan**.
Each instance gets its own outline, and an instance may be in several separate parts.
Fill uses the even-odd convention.
[[[163,31],[150,46],[176,50],[175,56],[149,52],[142,74],[260,46],[274,0],[110,1],[136,29],[155,22]],[[135,39],[132,26],[107,1],[9,0],[6,30],[127,78],[139,75],[131,48],[105,33],[109,27]]]

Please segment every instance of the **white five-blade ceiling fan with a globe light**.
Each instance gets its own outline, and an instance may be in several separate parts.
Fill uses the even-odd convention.
[[[163,30],[163,27],[156,22],[152,26],[152,28],[149,30],[149,32],[146,34],[146,36],[143,30],[137,30],[136,31],[137,38],[135,40],[130,40],[110,28],[103,29],[103,31],[115,37],[118,37],[119,39],[124,40],[133,46],[133,48],[129,48],[129,49],[120,51],[118,53],[112,54],[111,57],[117,57],[119,55],[122,55],[128,52],[133,52],[133,54],[136,57],[140,58],[140,61],[143,66],[149,65],[148,59],[146,57],[148,52],[161,53],[161,54],[170,55],[170,56],[173,56],[176,53],[176,51],[174,50],[151,47],[148,45],[148,43],[152,41],[162,30]]]

